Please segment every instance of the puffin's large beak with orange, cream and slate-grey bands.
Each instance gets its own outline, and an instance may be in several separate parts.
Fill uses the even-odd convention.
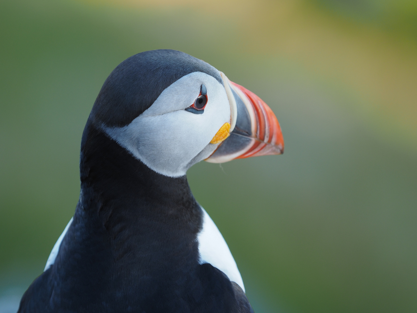
[[[274,112],[256,94],[229,81],[224,73],[221,76],[231,107],[230,136],[206,161],[224,163],[250,156],[283,154],[284,139]]]

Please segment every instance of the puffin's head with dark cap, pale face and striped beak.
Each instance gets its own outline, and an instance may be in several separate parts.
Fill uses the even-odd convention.
[[[168,177],[185,175],[201,160],[284,151],[279,123],[264,101],[175,50],[146,51],[120,63],[98,94],[82,147],[91,126]]]

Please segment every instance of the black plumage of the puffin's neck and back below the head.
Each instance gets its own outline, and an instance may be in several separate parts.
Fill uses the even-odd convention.
[[[106,84],[114,85],[110,78]],[[138,103],[132,112],[143,110]],[[203,212],[186,176],[146,167],[99,130],[93,111],[83,133],[73,222],[19,313],[253,312],[236,283],[198,263]]]

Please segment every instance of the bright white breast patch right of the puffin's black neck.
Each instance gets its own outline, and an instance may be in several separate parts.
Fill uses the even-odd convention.
[[[203,207],[201,210],[204,212],[203,229],[197,237],[200,264],[210,263],[245,291],[242,277],[226,241]]]

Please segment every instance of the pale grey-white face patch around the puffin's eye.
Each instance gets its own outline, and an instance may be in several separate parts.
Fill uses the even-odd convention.
[[[203,114],[185,111],[197,98],[201,84],[207,88]],[[152,106],[124,127],[103,130],[149,168],[169,177],[186,174],[192,164],[216,149],[208,146],[231,110],[224,86],[201,72],[190,73],[166,88]],[[205,149],[208,146],[208,149]],[[207,155],[196,156],[201,151]]]

